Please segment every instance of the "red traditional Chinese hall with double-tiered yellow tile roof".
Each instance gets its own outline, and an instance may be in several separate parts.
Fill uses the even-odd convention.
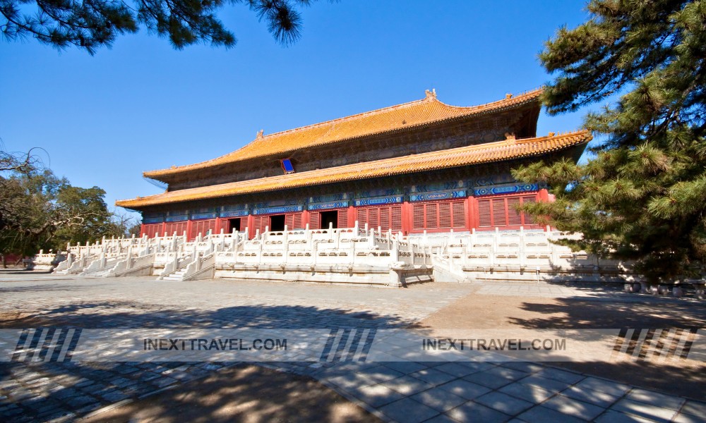
[[[120,200],[142,235],[362,227],[414,233],[539,228],[517,204],[549,201],[510,169],[577,161],[587,131],[537,136],[541,90],[478,106],[424,99],[256,139],[222,157],[146,171],[162,194]]]

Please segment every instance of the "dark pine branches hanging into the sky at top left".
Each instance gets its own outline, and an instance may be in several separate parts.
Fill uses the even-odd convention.
[[[236,38],[217,18],[226,4],[247,4],[281,44],[300,36],[298,6],[312,0],[0,0],[0,32],[6,39],[34,37],[58,49],[75,46],[95,54],[139,25],[166,37],[176,49],[196,42],[233,47]],[[36,6],[34,13],[27,13]]]

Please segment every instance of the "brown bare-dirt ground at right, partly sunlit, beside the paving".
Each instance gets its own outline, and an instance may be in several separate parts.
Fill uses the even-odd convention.
[[[568,298],[532,297],[517,295],[490,295],[473,293],[465,298],[438,310],[435,314],[419,321],[419,325],[433,331],[434,336],[459,337],[465,330],[478,329],[493,333],[498,338],[520,337],[521,333],[534,330],[563,329],[564,337],[570,342],[587,341],[585,346],[574,348],[595,348],[596,333],[588,329],[614,329],[616,338],[620,329],[670,329],[701,328],[706,324],[706,305],[693,300],[640,297],[637,295],[606,298],[575,296]],[[676,332],[676,331],[674,331]],[[537,332],[541,333],[541,332]],[[690,333],[688,330],[679,333]],[[508,335],[509,334],[509,335]],[[514,335],[513,335],[514,334]],[[492,335],[489,335],[492,336]],[[554,336],[554,335],[553,335]],[[542,336],[540,336],[541,338]],[[617,339],[616,339],[617,341]],[[604,338],[601,348],[610,349],[614,342],[610,336]],[[600,341],[599,341],[600,343]],[[580,352],[594,353],[591,350]],[[580,357],[566,353],[543,362],[563,367],[587,375],[617,380],[623,384],[663,391],[671,395],[706,400],[706,365],[695,360],[633,360],[634,357],[620,357],[621,360],[605,362],[577,362]],[[622,360],[622,359],[625,360]]]

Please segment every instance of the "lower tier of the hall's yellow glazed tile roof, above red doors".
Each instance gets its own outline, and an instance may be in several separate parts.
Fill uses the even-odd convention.
[[[432,171],[457,166],[538,156],[581,145],[589,142],[591,139],[592,136],[589,131],[581,130],[561,135],[550,134],[546,137],[503,140],[481,145],[446,149],[438,152],[365,161],[363,163],[318,169],[316,171],[289,173],[288,175],[272,176],[270,178],[241,180],[208,187],[169,191],[162,194],[150,195],[149,197],[119,200],[115,204],[120,207],[134,209],[157,204],[269,192],[349,180],[381,178],[403,173]]]

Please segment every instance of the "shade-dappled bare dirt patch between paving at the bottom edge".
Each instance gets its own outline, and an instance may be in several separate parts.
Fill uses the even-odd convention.
[[[222,369],[88,422],[373,422],[376,417],[311,378],[251,364]]]

